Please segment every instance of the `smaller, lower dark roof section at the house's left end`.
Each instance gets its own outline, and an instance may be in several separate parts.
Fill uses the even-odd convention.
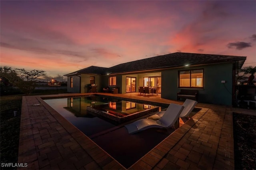
[[[81,70],[66,74],[64,76],[71,76],[76,74],[105,74],[106,69],[107,69],[106,67],[89,66]]]

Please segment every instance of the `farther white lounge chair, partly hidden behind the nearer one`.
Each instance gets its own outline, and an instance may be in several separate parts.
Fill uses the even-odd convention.
[[[184,109],[180,113],[180,117],[188,117],[197,103],[198,102],[196,102],[195,100],[186,99],[186,101],[182,105],[184,106]],[[168,108],[165,111],[159,111],[155,115],[148,117],[148,119],[158,120],[164,115],[167,110]]]

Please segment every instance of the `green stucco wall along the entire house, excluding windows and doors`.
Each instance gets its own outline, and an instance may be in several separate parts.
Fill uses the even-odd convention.
[[[90,84],[90,76],[95,76],[95,84],[98,85],[98,92],[102,92],[104,87],[108,87],[108,81],[110,76],[116,76],[116,87],[118,87],[118,93],[126,93],[126,76],[136,77],[136,91],[138,92],[138,86],[143,86],[143,78],[147,76],[161,76],[162,77],[162,98],[177,100],[177,92],[180,92],[178,88],[178,71],[179,70],[192,70],[192,69],[204,69],[204,88],[196,88],[199,93],[199,101],[202,103],[223,104],[232,105],[232,63],[221,64],[209,64],[204,66],[190,66],[186,68],[173,68],[168,70],[162,70],[158,72],[148,72],[139,74],[116,74],[116,75],[93,75],[82,74],[81,86],[80,78],[78,76],[73,77],[73,88],[70,88],[70,76],[68,76],[68,92],[72,93],[86,93],[88,92],[88,84]],[[221,81],[225,80],[226,83]],[[80,89],[80,90],[79,90]],[[195,89],[195,88],[189,88]]]

